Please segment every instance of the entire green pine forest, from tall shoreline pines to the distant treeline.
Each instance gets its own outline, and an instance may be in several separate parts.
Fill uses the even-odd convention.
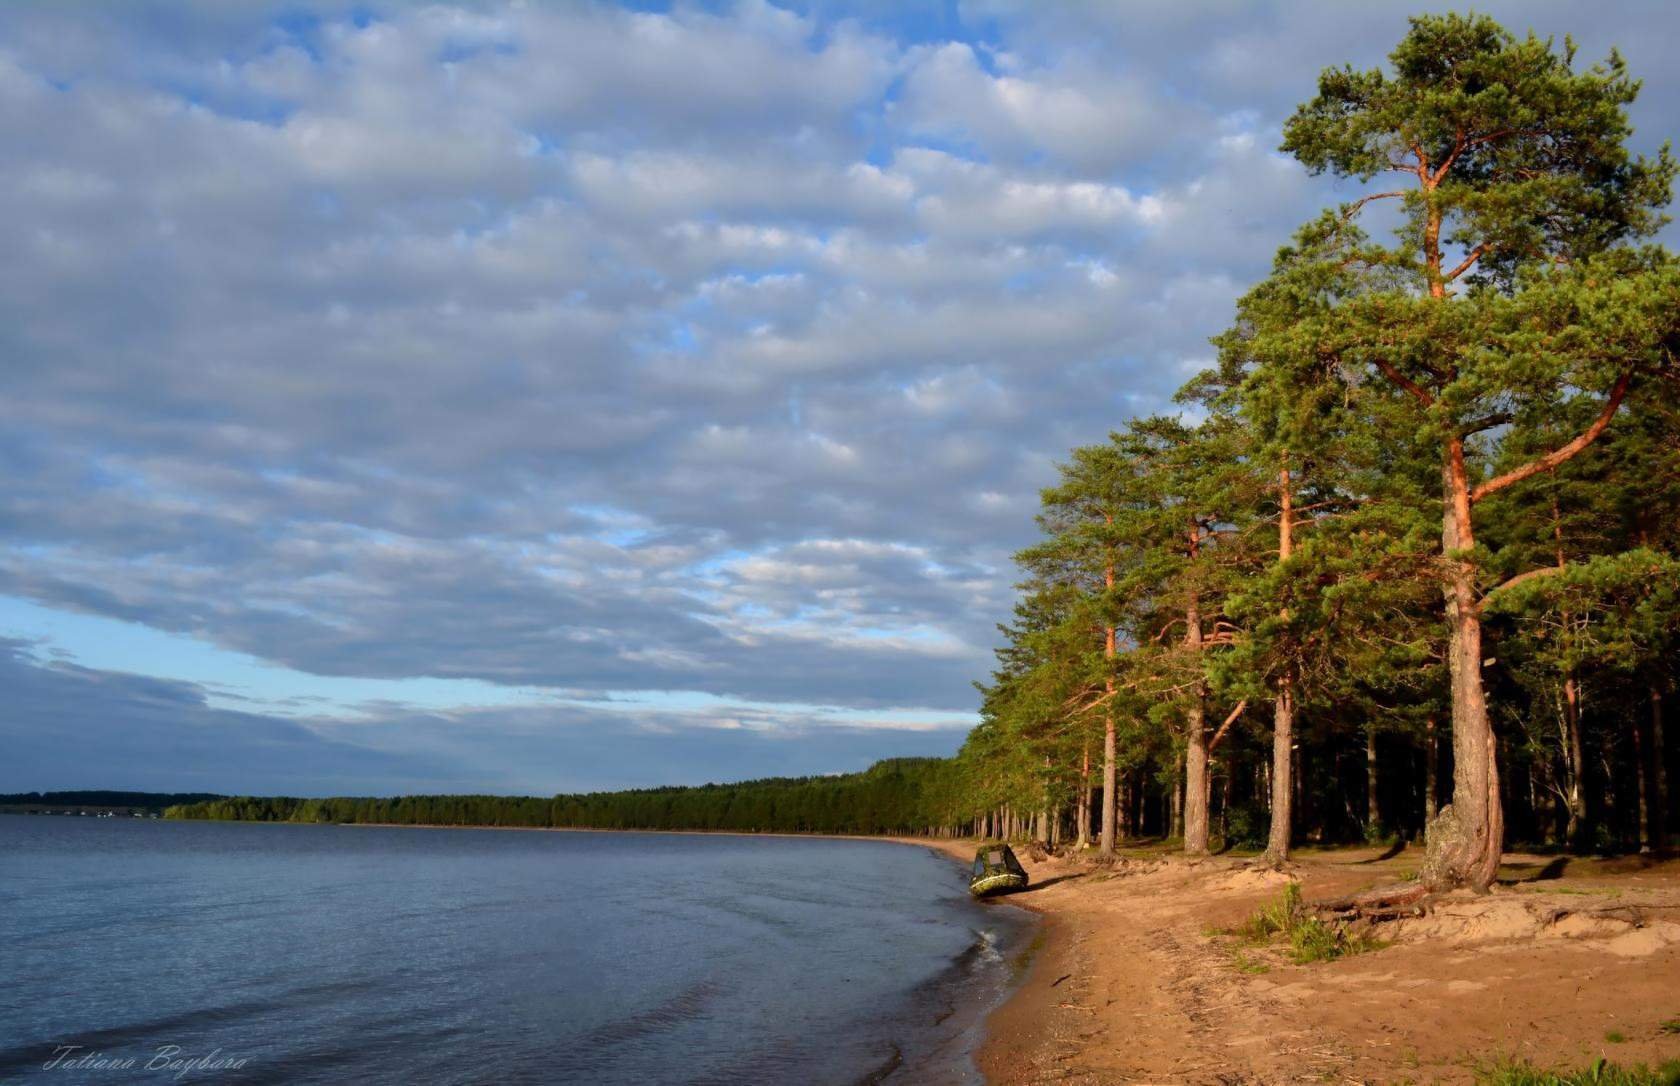
[[[953,760],[554,799],[230,799],[171,817],[939,832],[1188,854],[1418,839],[1663,849],[1680,677],[1675,163],[1614,52],[1420,17],[1282,151],[1304,224],[1173,414],[1070,451]]]

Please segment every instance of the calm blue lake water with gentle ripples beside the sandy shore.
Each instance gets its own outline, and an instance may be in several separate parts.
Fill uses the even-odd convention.
[[[976,1081],[1026,925],[869,841],[5,815],[0,1081]]]

